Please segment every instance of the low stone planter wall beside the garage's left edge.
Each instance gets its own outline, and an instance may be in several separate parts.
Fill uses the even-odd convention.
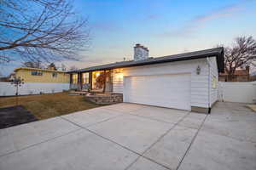
[[[123,94],[87,94],[85,99],[97,105],[110,105],[123,102]]]

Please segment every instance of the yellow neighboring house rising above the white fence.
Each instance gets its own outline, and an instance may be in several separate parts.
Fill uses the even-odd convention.
[[[30,67],[16,68],[15,77],[20,77],[24,82],[70,82],[70,76],[66,72]]]

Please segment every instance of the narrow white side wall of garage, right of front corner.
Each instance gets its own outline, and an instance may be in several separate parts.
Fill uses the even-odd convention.
[[[218,100],[218,66],[216,57],[209,58],[210,71],[210,104],[211,106]]]

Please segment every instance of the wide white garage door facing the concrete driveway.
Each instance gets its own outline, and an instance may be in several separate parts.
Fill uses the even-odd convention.
[[[124,101],[190,110],[190,75],[125,77]]]

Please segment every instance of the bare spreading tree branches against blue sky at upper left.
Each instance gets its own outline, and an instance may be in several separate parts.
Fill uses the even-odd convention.
[[[70,0],[0,0],[0,62],[79,59],[89,40]]]

